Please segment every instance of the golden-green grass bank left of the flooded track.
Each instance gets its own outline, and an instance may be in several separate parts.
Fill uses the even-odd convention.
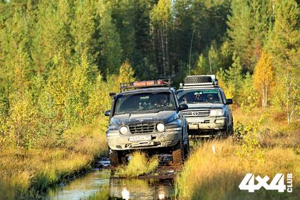
[[[93,162],[106,154],[104,128],[100,124],[70,129],[60,147],[1,149],[0,197],[42,199],[40,194],[48,187],[91,170]]]

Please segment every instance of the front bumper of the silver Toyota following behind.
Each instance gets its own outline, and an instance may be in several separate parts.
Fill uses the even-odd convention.
[[[226,129],[227,117],[186,118],[189,130]],[[197,121],[198,120],[198,121]]]

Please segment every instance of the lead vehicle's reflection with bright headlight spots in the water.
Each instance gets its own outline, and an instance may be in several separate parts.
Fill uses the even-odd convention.
[[[172,179],[111,179],[111,197],[147,200],[165,199],[173,194]]]

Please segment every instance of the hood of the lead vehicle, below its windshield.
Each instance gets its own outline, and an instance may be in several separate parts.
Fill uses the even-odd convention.
[[[159,111],[158,113],[128,113],[120,116],[113,116],[111,122],[115,125],[125,125],[134,122],[168,123],[177,118],[177,111]]]

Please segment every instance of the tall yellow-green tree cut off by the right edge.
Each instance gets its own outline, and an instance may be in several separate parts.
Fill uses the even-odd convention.
[[[276,1],[274,28],[268,40],[276,82],[283,88],[280,96],[288,123],[300,116],[300,8],[296,1]]]

